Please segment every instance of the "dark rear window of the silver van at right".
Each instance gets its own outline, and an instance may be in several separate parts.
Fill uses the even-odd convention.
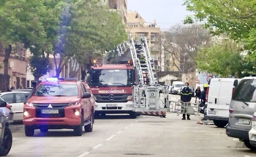
[[[256,102],[256,80],[241,80],[235,88],[232,96],[233,100],[244,102]]]

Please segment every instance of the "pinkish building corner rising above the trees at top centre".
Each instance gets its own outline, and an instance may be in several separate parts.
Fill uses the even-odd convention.
[[[127,0],[108,0],[110,9],[119,11],[122,16],[123,23],[127,22]]]

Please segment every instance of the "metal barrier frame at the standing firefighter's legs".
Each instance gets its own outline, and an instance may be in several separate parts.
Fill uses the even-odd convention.
[[[169,101],[169,111],[172,113],[179,114],[189,114],[189,115],[199,115],[201,107],[200,103],[192,102],[180,102],[180,101]]]

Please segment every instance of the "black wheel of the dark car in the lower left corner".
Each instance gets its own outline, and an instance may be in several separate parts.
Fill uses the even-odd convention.
[[[3,144],[0,148],[0,156],[5,156],[9,153],[9,151],[11,149],[11,144],[12,144],[11,130],[6,126]]]

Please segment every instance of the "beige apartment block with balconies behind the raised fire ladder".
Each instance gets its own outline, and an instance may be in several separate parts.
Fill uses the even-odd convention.
[[[149,51],[151,57],[155,61],[155,69],[161,71],[161,40],[160,40],[160,28],[157,27],[156,22],[146,22],[136,11],[127,12],[126,29],[133,34],[135,40],[140,37],[146,37],[148,41]]]

